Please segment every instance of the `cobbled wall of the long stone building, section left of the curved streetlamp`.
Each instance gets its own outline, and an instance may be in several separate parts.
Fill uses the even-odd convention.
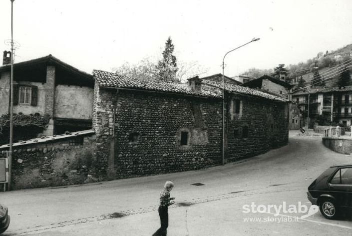
[[[117,178],[205,168],[221,163],[220,99],[100,88],[97,159],[107,162],[115,120]],[[116,108],[115,108],[116,107]],[[187,137],[186,137],[187,136]]]

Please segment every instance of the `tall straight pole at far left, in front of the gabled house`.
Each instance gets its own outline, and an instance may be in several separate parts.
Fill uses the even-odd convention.
[[[10,79],[10,141],[8,152],[8,190],[11,190],[12,140],[13,140],[13,1],[11,1],[11,79]]]

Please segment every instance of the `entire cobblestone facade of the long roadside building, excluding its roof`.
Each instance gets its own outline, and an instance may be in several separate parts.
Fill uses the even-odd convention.
[[[115,94],[116,89],[99,88],[93,108],[97,160],[104,170],[113,163],[115,178],[195,170],[222,163],[221,99],[119,90],[115,104]],[[241,100],[241,115],[235,115],[227,126],[228,162],[288,143],[288,104],[246,96],[235,98]],[[249,128],[247,138],[242,138],[243,127]],[[238,128],[241,137],[235,138]],[[188,140],[182,145],[185,136]]]

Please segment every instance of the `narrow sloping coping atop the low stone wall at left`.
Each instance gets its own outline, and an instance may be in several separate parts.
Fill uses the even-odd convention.
[[[39,144],[39,143],[46,143],[46,142],[53,142],[56,140],[60,139],[66,139],[66,138],[72,138],[72,137],[77,137],[77,136],[82,136],[82,135],[87,135],[87,134],[94,134],[94,130],[82,130],[82,131],[77,131],[77,132],[72,132],[72,133],[67,133],[67,134],[60,134],[60,135],[52,135],[52,136],[43,136],[41,138],[34,138],[34,139],[29,139],[26,141],[21,141],[18,143],[13,143],[13,147],[18,147],[18,146],[24,146],[24,145],[30,145],[30,144]],[[1,149],[8,149],[9,144],[5,144],[0,146]]]

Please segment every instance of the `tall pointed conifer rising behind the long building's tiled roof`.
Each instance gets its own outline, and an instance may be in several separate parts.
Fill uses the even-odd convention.
[[[163,51],[163,58],[158,61],[156,65],[157,78],[164,81],[179,81],[176,77],[178,70],[176,63],[176,56],[174,52],[174,44],[172,44],[171,37],[166,40],[165,50]]]

